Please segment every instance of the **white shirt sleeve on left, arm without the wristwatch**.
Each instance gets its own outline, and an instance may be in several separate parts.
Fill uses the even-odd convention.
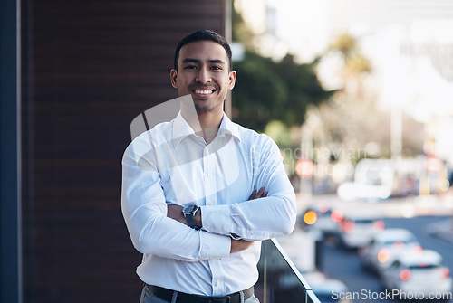
[[[153,148],[140,154],[142,148],[137,142],[131,144],[122,159],[121,210],[134,247],[141,253],[185,261],[227,256],[229,237],[196,231],[167,217]]]

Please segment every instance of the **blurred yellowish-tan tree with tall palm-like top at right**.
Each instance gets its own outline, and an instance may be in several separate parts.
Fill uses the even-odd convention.
[[[349,33],[342,33],[334,39],[328,52],[341,54],[343,86],[328,102],[309,110],[308,116],[323,121],[321,127],[316,126],[316,131],[322,136],[315,136],[315,143],[318,147],[355,150],[355,153],[349,154],[355,156],[350,159],[352,162],[361,157],[390,157],[390,113],[377,106],[379,92],[373,85],[371,62],[361,54],[357,42]],[[420,127],[409,117],[403,119],[407,129]],[[419,153],[421,141],[414,137],[417,134],[404,133],[405,156]],[[367,150],[369,144],[380,148],[371,153]]]

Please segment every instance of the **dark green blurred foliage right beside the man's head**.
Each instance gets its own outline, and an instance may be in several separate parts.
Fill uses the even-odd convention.
[[[272,120],[286,127],[304,122],[307,106],[318,105],[333,92],[325,91],[317,80],[312,64],[297,64],[291,55],[281,62],[246,52],[235,62],[236,87],[233,90],[234,119],[258,132]]]

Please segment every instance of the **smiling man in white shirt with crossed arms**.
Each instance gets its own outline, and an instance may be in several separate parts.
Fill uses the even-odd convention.
[[[282,156],[223,111],[236,82],[223,37],[182,39],[170,80],[177,118],[135,138],[122,160],[122,212],[143,253],[140,302],[258,302],[261,241],[295,223]]]

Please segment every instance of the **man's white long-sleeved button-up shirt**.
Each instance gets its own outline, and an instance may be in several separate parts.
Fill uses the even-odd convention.
[[[248,289],[261,241],[294,229],[294,189],[279,148],[225,114],[207,145],[179,113],[134,139],[122,167],[122,213],[148,284],[204,296]],[[247,201],[263,186],[267,197]],[[167,204],[198,204],[203,228],[168,218]],[[230,253],[232,234],[255,243]]]

